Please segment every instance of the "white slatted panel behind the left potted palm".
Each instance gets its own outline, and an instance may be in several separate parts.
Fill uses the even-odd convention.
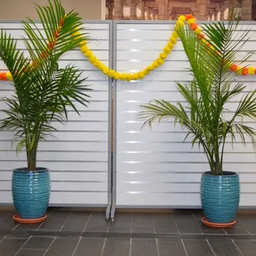
[[[21,40],[21,23],[1,23],[18,40],[18,47],[24,50]],[[84,29],[90,37],[89,47],[104,64],[109,64],[110,23],[99,21],[87,23]],[[23,34],[22,34],[23,33]],[[25,54],[28,53],[25,51]],[[50,169],[51,206],[107,206],[108,190],[108,78],[88,62],[80,50],[67,53],[60,60],[61,67],[76,64],[88,77],[92,92],[89,107],[77,104],[80,116],[69,111],[69,122],[62,126],[55,139],[42,141],[38,152],[38,166]],[[0,72],[6,67],[0,61]],[[0,82],[0,97],[11,95],[10,82]],[[7,109],[0,101],[0,109]],[[0,118],[3,113],[0,112]],[[0,132],[0,204],[12,204],[12,169],[26,166],[26,153],[17,155],[11,148],[12,134]]]

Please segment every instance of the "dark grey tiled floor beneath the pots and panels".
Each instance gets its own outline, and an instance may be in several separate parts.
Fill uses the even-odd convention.
[[[230,229],[201,225],[201,211],[117,213],[50,210],[45,223],[21,225],[0,211],[0,256],[255,256],[256,214]]]

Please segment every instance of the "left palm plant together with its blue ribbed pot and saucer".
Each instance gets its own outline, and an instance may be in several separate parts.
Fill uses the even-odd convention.
[[[82,72],[73,64],[59,67],[64,53],[85,44],[78,13],[66,13],[59,0],[49,1],[48,7],[37,6],[36,11],[39,24],[31,19],[22,22],[29,57],[6,31],[0,35],[0,58],[12,75],[14,89],[12,97],[3,98],[8,109],[0,127],[12,131],[17,152],[26,149],[27,166],[12,174],[15,220],[25,222],[45,218],[50,199],[49,170],[36,165],[40,140],[57,131],[56,122],[68,120],[68,110],[78,113],[74,102],[88,103]]]

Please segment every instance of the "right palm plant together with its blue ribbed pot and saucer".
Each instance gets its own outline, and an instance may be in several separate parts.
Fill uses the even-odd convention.
[[[235,15],[228,24],[219,21],[205,25],[207,39],[197,36],[187,25],[176,28],[192,73],[191,82],[177,83],[185,103],[174,106],[166,100],[154,100],[141,106],[139,114],[144,126],[173,119],[174,124],[187,129],[185,140],[192,136],[192,145],[203,149],[210,168],[201,175],[201,206],[206,216],[203,221],[214,226],[235,224],[239,206],[239,175],[224,168],[225,143],[240,138],[244,145],[249,141],[255,146],[256,135],[254,128],[243,122],[256,117],[256,91],[248,92],[235,80],[239,74],[254,69],[243,68],[249,55],[238,58],[249,31],[236,33],[239,21],[232,17]],[[237,59],[242,59],[240,66],[234,64]],[[241,95],[235,111],[230,111],[227,103]]]

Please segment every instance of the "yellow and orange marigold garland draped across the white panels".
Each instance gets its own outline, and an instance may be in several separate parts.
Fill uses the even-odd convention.
[[[83,55],[88,58],[89,62],[95,68],[102,71],[102,73],[106,74],[109,78],[114,78],[116,80],[122,80],[122,81],[128,81],[128,82],[130,82],[131,80],[138,80],[138,79],[141,80],[141,79],[145,78],[145,76],[147,76],[154,69],[158,69],[160,65],[164,64],[164,59],[166,59],[168,57],[168,55],[173,50],[173,46],[177,43],[178,27],[184,26],[185,21],[187,21],[187,25],[190,26],[191,30],[197,34],[198,38],[200,40],[202,40],[203,43],[205,43],[208,47],[210,47],[211,50],[215,50],[214,47],[212,45],[210,45],[209,43],[207,43],[207,41],[204,39],[205,35],[201,33],[201,28],[199,26],[197,26],[196,19],[191,14],[188,14],[186,17],[185,16],[178,17],[178,21],[174,28],[173,34],[170,37],[170,39],[168,40],[167,45],[164,46],[163,52],[160,53],[159,57],[157,59],[155,59],[152,64],[150,64],[148,67],[146,67],[144,70],[141,70],[140,72],[118,73],[113,69],[109,69],[99,59],[97,59],[97,57],[95,55],[93,55],[92,51],[88,48],[86,41],[84,41],[81,44],[82,46],[81,46],[80,50],[82,51]],[[237,66],[236,64],[230,64],[230,70],[233,72],[236,72],[238,74],[241,74],[241,75],[256,74],[256,69],[253,66],[250,66],[249,68],[243,68],[243,67]],[[10,72],[0,73],[0,80],[12,80],[12,74]]]

